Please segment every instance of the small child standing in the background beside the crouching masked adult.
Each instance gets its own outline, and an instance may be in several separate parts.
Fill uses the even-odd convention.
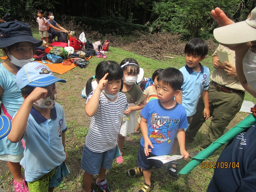
[[[49,37],[48,21],[46,20],[46,18],[44,18],[44,12],[41,9],[37,10],[37,16],[38,18],[36,18],[36,22],[38,22],[39,24],[39,37],[41,38],[41,40],[44,40],[45,38],[45,41],[46,41],[45,47],[48,47],[48,37]]]

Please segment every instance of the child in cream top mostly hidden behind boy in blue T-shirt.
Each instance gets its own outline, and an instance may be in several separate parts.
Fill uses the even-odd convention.
[[[164,69],[157,69],[155,70],[155,72],[152,74],[152,81],[154,82],[154,86],[148,86],[146,88],[146,90],[144,90],[144,96],[145,96],[145,100],[146,103],[148,103],[151,100],[157,99],[157,93],[156,93],[156,88],[157,88],[157,77],[160,74],[160,72],[164,70]],[[141,110],[140,110],[141,111]],[[140,114],[140,112],[139,112]],[[138,118],[138,123],[137,126],[135,128],[135,130],[132,132],[132,134],[140,134],[139,130],[140,130],[140,120],[141,120],[141,115]]]

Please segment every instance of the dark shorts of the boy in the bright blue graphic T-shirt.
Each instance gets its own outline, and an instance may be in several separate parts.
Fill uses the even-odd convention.
[[[144,170],[150,170],[154,166],[155,168],[160,168],[163,163],[160,160],[155,159],[147,159],[149,157],[155,157],[157,155],[154,155],[152,153],[149,153],[148,156],[146,156],[144,152],[144,147],[140,144],[139,152],[138,152],[138,158],[137,158],[137,165],[144,169]]]

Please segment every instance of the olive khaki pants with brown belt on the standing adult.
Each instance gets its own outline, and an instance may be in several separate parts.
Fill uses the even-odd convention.
[[[236,113],[239,112],[243,100],[244,92],[228,93],[218,91],[212,84],[210,84],[209,109],[212,121],[208,135],[202,142],[198,151],[204,150],[212,142],[222,136],[230,121],[236,116]],[[186,130],[186,138],[193,139],[204,122],[204,102],[202,97],[200,97],[196,107],[196,114],[192,116],[190,126],[188,130]]]

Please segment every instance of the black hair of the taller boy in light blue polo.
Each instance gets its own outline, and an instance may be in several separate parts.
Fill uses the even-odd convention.
[[[184,52],[204,57],[208,53],[208,45],[204,40],[194,38],[186,44]]]

